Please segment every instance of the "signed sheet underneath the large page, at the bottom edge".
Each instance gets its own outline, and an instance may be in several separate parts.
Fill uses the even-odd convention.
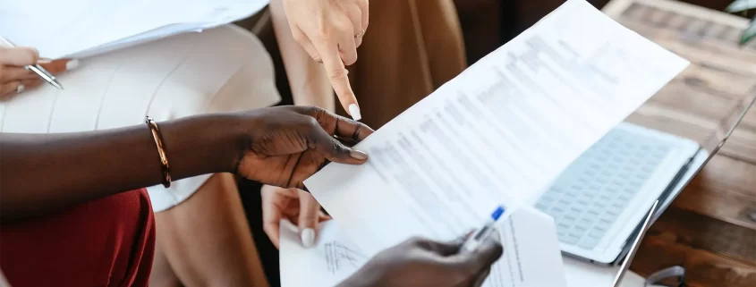
[[[282,221],[279,253],[282,287],[335,286],[367,262],[369,257],[338,227],[337,219],[320,224],[318,241],[314,247],[305,249],[296,227]],[[505,253],[491,268],[483,286],[566,286],[556,228],[548,215],[522,208],[497,229]]]

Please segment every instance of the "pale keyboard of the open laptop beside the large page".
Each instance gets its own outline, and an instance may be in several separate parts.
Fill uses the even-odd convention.
[[[616,128],[567,167],[535,207],[554,218],[559,241],[593,249],[673,148]]]

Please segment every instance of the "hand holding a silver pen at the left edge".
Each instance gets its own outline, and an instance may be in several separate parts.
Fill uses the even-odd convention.
[[[0,100],[8,99],[44,83],[37,74],[23,68],[39,63],[47,72],[58,74],[78,66],[78,61],[41,61],[36,49],[30,47],[0,46]]]

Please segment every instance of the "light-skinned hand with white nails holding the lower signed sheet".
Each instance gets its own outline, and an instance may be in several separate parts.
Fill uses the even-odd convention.
[[[262,227],[273,245],[278,248],[281,219],[299,226],[302,246],[315,244],[318,224],[331,219],[320,210],[320,204],[310,192],[299,189],[282,189],[264,185],[262,197]]]

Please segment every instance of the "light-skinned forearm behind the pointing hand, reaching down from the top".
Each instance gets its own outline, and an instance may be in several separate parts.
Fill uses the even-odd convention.
[[[281,0],[270,2],[270,13],[294,105],[319,106],[335,112],[334,90],[328,81],[326,70],[322,64],[313,61],[294,40]]]

